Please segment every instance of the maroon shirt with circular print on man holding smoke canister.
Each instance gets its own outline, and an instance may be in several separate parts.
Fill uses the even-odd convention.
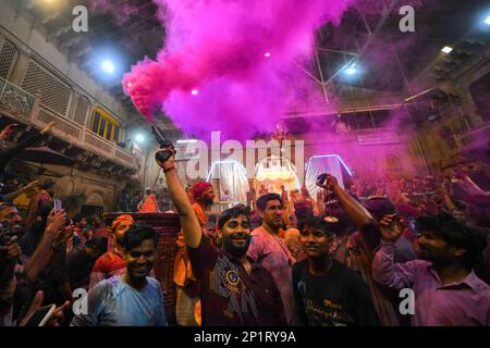
[[[242,263],[205,238],[187,247],[194,275],[200,279],[203,326],[285,326],[281,295],[270,273],[249,259]]]

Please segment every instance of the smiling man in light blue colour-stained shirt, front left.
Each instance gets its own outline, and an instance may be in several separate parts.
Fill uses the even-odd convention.
[[[148,225],[134,224],[120,247],[126,263],[120,276],[103,279],[88,291],[88,308],[72,326],[167,326],[160,283],[149,277],[157,261],[157,238]]]

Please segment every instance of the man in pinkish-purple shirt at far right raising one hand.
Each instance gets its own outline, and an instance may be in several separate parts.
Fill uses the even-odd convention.
[[[394,243],[403,228],[395,214],[382,219],[375,281],[396,290],[413,288],[413,326],[489,326],[490,286],[473,271],[486,248],[486,235],[450,215],[420,217],[418,224],[421,260],[395,263]]]

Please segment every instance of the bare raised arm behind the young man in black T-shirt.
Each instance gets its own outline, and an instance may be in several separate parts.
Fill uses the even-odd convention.
[[[367,225],[377,225],[376,220],[369,213],[369,211],[364,208],[364,206],[355,200],[351,195],[348,195],[342,187],[340,187],[339,182],[333,175],[327,175],[327,183],[319,184],[317,186],[327,188],[335,194],[340,203],[345,210],[348,217],[352,219],[357,228],[365,227]]]

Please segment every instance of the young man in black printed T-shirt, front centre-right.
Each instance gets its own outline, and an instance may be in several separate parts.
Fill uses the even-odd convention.
[[[311,216],[299,223],[299,231],[307,259],[293,265],[295,324],[380,325],[366,283],[330,254],[332,226]]]

